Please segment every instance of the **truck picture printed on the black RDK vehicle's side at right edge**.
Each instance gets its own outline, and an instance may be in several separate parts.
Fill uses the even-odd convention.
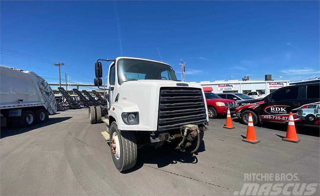
[[[308,105],[307,108],[297,109],[297,118],[313,122],[320,119],[320,104]]]

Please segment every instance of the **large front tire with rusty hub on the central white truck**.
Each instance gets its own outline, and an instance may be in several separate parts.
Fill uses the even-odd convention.
[[[137,143],[134,132],[120,131],[116,122],[110,126],[111,157],[118,171],[132,168],[137,161]]]

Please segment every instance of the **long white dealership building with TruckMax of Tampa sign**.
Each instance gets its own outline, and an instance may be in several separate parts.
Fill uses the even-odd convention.
[[[268,80],[268,81],[239,81],[239,80],[219,80],[219,81],[202,81],[198,84],[202,85],[208,91],[213,93],[222,93],[222,92],[235,92],[248,94],[248,92],[258,91],[262,95],[268,95],[271,92],[289,85],[289,80]],[[196,82],[192,82],[196,83]],[[206,88],[209,87],[209,88]],[[210,88],[211,87],[211,88]],[[205,90],[206,91],[206,90]]]

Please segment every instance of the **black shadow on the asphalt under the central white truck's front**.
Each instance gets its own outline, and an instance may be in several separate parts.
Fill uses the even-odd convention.
[[[205,151],[204,141],[200,143],[199,149],[194,153],[190,154],[189,152],[181,152],[175,149],[176,146],[164,144],[159,148],[146,147],[138,149],[138,157],[135,166],[129,170],[126,170],[122,173],[131,173],[140,169],[145,163],[157,164],[158,168],[165,167],[169,164],[196,164],[198,159],[196,155]],[[191,147],[195,148],[195,147]],[[193,150],[191,149],[191,150]]]

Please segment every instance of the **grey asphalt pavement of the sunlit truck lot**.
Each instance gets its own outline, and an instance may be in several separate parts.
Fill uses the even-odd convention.
[[[167,145],[138,149],[137,164],[125,173],[116,170],[100,134],[105,124],[91,125],[87,108],[41,125],[2,128],[0,194],[233,195],[250,173],[297,173],[299,183],[317,183],[314,195],[320,194],[319,128],[297,127],[301,142],[291,143],[281,140],[284,125],[264,124],[255,127],[260,143],[250,144],[242,142],[246,126],[237,118],[235,129],[224,123],[224,117],[210,120],[196,154]]]

